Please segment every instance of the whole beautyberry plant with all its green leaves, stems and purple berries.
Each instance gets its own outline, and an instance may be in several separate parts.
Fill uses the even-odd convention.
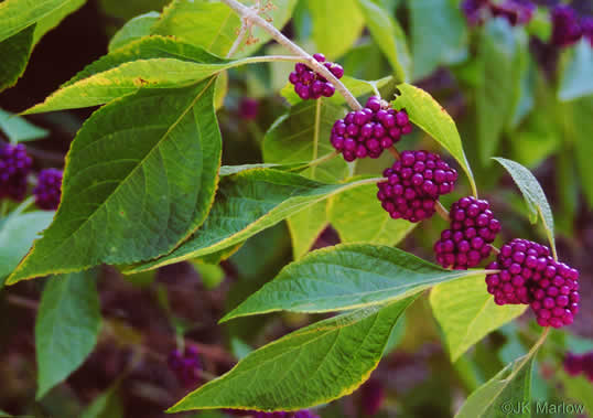
[[[19,52],[0,88],[82,3],[0,3],[0,51]],[[427,332],[466,395],[443,416],[529,404],[533,369],[590,405],[575,377],[591,381],[591,355],[567,352],[579,344],[565,331],[589,285],[557,232],[574,232],[580,189],[593,202],[593,131],[579,125],[593,109],[591,22],[522,0],[173,0],[131,19],[42,103],[0,114],[0,286],[44,283],[39,303],[7,297],[36,311],[35,398],[117,339],[129,358],[109,363],[119,377],[85,416],[115,414],[140,372],[151,384],[130,392],[170,414],[320,418],[349,395],[357,406],[328,414],[399,414],[410,406],[381,367],[398,346],[428,367]],[[64,167],[26,142],[47,132],[23,116],[95,107]],[[560,223],[528,168],[550,156]],[[397,247],[407,237],[414,254]],[[171,293],[187,289],[168,281],[190,265],[207,289],[188,303],[196,323],[176,317]],[[120,315],[131,324],[111,318],[122,296],[105,277],[120,274],[150,289],[169,333],[129,330],[136,298],[138,317]],[[282,326],[266,323],[274,313]],[[168,378],[174,396],[157,387]]]

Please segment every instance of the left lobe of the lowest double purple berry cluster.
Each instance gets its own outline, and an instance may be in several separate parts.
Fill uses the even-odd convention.
[[[500,270],[486,276],[488,293],[497,304],[529,304],[533,299],[529,282],[543,277],[550,257],[548,247],[516,238],[505,244],[489,270]]]

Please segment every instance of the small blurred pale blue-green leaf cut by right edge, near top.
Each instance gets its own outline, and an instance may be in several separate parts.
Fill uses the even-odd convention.
[[[586,39],[576,44],[558,90],[562,101],[574,100],[593,94],[593,47]]]

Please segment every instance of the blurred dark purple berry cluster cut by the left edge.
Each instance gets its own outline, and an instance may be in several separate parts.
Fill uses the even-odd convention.
[[[22,201],[33,161],[23,144],[0,144],[0,199]]]

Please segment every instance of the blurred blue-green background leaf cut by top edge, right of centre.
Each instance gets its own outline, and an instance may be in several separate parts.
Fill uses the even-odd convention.
[[[429,76],[439,65],[467,57],[467,26],[457,2],[414,0],[410,10],[413,79]]]

